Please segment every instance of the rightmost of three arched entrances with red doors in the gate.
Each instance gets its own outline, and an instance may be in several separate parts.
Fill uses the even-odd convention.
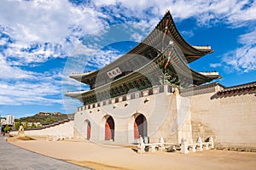
[[[140,136],[148,136],[148,122],[143,114],[138,115],[134,122],[134,138],[139,139]]]

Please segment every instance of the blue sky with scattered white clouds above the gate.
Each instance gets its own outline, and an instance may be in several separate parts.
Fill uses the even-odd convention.
[[[73,112],[81,104],[62,96],[81,85],[67,76],[117,59],[153,30],[166,8],[186,41],[214,49],[190,67],[219,71],[219,82],[227,87],[256,80],[254,1],[3,0],[0,115]],[[122,28],[117,31],[114,26]],[[113,32],[106,37],[109,29]],[[114,33],[119,37],[112,41]]]

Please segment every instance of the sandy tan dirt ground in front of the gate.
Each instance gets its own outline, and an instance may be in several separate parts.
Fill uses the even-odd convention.
[[[26,150],[94,169],[254,170],[256,168],[256,152],[204,150],[183,155],[177,152],[157,151],[140,155],[129,147],[83,141],[9,139],[9,142]]]

